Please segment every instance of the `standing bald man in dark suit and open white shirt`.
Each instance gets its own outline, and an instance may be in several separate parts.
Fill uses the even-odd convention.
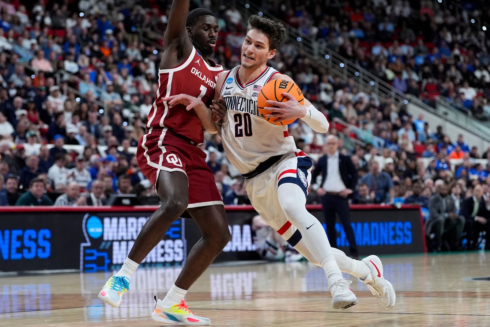
[[[312,174],[313,183],[321,175],[321,184],[317,189],[321,197],[328,240],[332,248],[337,248],[337,232],[335,231],[335,214],[339,215],[343,230],[349,241],[350,254],[359,257],[354,231],[350,225],[350,209],[348,198],[352,197],[357,185],[357,170],[349,156],[339,153],[339,140],[329,135],[325,143],[327,154],[319,158]]]

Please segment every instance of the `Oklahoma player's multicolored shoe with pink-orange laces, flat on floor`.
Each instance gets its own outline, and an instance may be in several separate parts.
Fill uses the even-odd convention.
[[[211,320],[196,316],[194,312],[188,309],[184,300],[174,304],[171,307],[165,307],[162,300],[156,299],[155,310],[151,313],[151,319],[158,323],[165,323],[174,326],[208,326]]]

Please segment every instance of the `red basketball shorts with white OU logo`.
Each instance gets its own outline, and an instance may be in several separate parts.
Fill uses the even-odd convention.
[[[189,183],[189,204],[195,208],[223,204],[215,178],[206,164],[206,153],[190,141],[171,134],[167,128],[150,128],[136,152],[141,171],[155,185],[162,170],[182,172]]]

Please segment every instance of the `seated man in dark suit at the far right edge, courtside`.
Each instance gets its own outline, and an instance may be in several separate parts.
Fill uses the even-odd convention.
[[[466,219],[468,250],[476,249],[481,231],[486,231],[486,235],[483,236],[486,238],[485,250],[490,250],[490,199],[487,201],[483,197],[482,186],[476,185],[473,196],[466,198],[461,204],[461,214]]]

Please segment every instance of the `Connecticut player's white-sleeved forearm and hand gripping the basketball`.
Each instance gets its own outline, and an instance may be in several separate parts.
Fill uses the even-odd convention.
[[[275,74],[271,79],[288,79],[294,82],[293,78],[282,74]],[[301,105],[289,93],[283,93],[283,96],[286,97],[288,101],[267,101],[267,104],[269,104],[270,107],[265,107],[264,109],[273,111],[274,113],[268,114],[266,117],[279,117],[276,122],[299,118],[316,132],[326,133],[328,131],[330,124],[328,123],[327,118],[319,112],[308,99],[305,98],[304,105]]]

